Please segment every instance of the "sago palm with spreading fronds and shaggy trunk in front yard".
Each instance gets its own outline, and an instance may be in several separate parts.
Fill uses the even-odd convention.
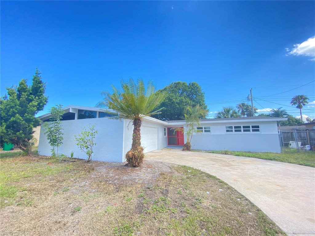
[[[134,129],[132,134],[131,149],[126,154],[126,160],[132,166],[140,166],[143,161],[143,147],[141,146],[140,128],[143,118],[159,114],[163,109],[154,110],[165,98],[164,93],[155,93],[152,81],[145,88],[142,79],[137,83],[133,79],[128,82],[121,81],[122,89],[112,85],[112,93],[103,91],[103,100],[97,107],[105,107],[117,112],[114,119],[128,119],[132,122]]]

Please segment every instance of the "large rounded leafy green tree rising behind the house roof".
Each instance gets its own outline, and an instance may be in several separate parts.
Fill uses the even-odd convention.
[[[184,120],[185,109],[187,106],[199,105],[201,109],[207,109],[204,101],[204,93],[200,85],[196,82],[174,82],[157,91],[166,93],[164,101],[157,107],[164,107],[160,114],[153,115],[154,118],[163,121]],[[207,114],[200,115],[200,119],[206,118]]]

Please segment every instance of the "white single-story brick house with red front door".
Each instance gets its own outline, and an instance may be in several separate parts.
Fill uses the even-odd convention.
[[[95,124],[98,134],[95,138],[97,145],[94,147],[93,160],[123,162],[125,154],[131,148],[132,122],[126,119],[114,120],[112,110],[95,107],[67,106],[64,108],[63,133],[64,141],[59,148],[59,153],[74,157],[86,158],[78,149],[74,135],[78,135],[82,128],[88,124]],[[50,114],[42,115],[42,121],[49,121]],[[252,152],[280,152],[277,121],[286,118],[266,116],[203,119],[200,120],[202,130],[194,134],[192,149],[202,150],[233,150]],[[185,121],[161,121],[146,117],[141,126],[141,145],[144,152],[163,149],[167,146],[182,146],[186,142],[186,135],[172,130],[172,127],[184,127]],[[38,152],[40,155],[50,155],[51,147],[42,127],[39,138]]]

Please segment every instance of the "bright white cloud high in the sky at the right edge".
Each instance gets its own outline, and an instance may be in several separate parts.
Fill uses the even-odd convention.
[[[288,52],[287,56],[308,56],[312,57],[311,61],[315,61],[315,36],[302,43],[294,44],[292,49],[285,48],[285,50]]]

